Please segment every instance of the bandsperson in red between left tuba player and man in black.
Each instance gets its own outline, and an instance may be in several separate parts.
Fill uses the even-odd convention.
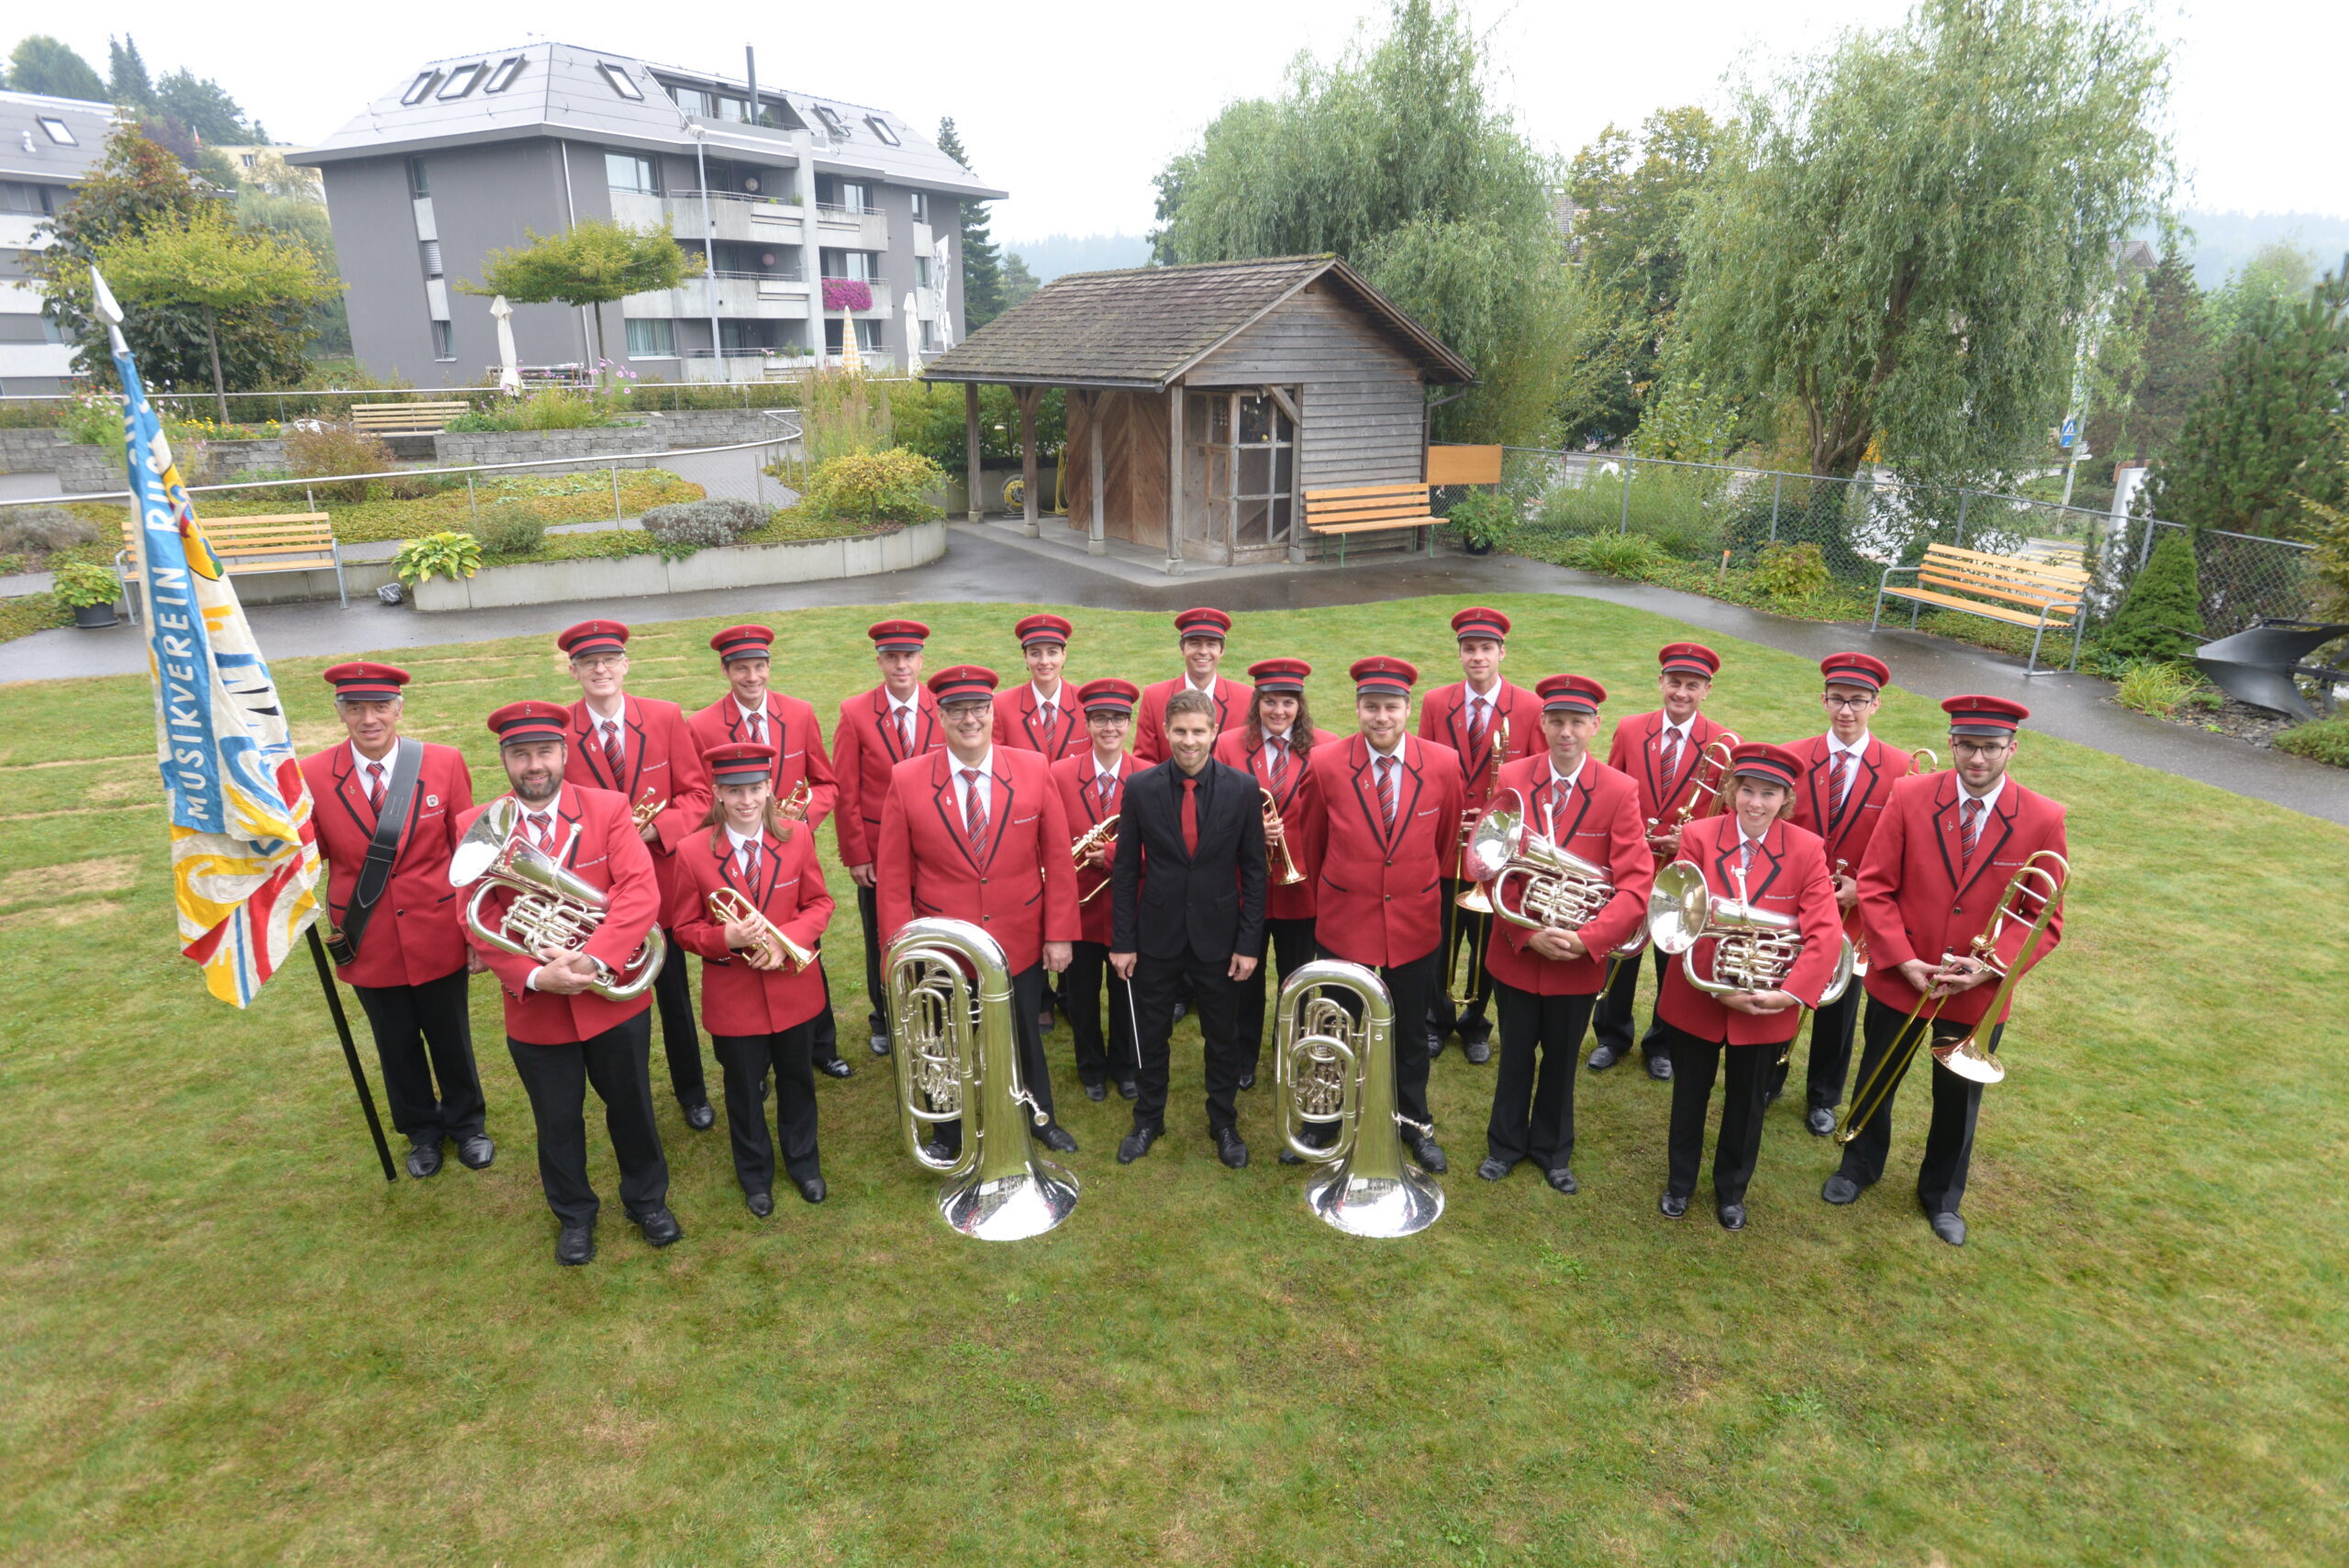
[[[1078,939],[1069,951],[1069,972],[1059,979],[1059,1000],[1069,1012],[1069,1033],[1076,1038],[1076,1077],[1085,1084],[1085,1099],[1095,1101],[1109,1099],[1111,1080],[1125,1099],[1139,1094],[1135,1073],[1142,1068],[1142,1056],[1135,1052],[1135,993],[1132,984],[1109,967],[1109,854],[1116,850],[1116,831],[1097,831],[1106,822],[1118,822],[1125,812],[1125,784],[1142,772],[1142,763],[1125,751],[1125,732],[1132,730],[1139,697],[1132,681],[1116,676],[1085,681],[1076,702],[1085,709],[1090,744],[1085,751],[1052,763],[1052,786],[1059,789],[1059,807],[1069,817],[1069,831],[1078,838],[1092,838],[1085,847],[1085,861],[1076,869]],[[1102,1035],[1104,976],[1109,979],[1106,1040]]]

